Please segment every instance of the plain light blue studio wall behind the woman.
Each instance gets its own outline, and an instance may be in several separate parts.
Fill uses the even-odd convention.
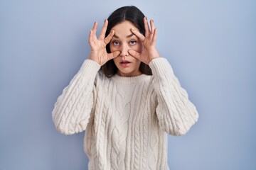
[[[253,0],[0,0],[0,169],[87,169],[84,133],[61,135],[51,111],[90,52],[93,23],[127,5],[154,19],[157,47],[200,115],[169,136],[170,169],[255,170]]]

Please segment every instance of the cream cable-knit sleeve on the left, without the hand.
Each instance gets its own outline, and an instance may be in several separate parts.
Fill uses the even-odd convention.
[[[95,77],[100,65],[85,60],[70,84],[63,89],[52,112],[57,130],[72,135],[86,129],[95,98]]]

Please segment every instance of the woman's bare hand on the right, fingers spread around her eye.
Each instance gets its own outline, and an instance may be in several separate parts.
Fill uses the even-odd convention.
[[[149,28],[149,23],[151,28]],[[142,52],[137,52],[135,50],[128,51],[129,55],[137,58],[145,64],[149,64],[151,60],[160,57],[160,54],[156,49],[157,30],[154,28],[153,20],[150,20],[149,23],[147,22],[146,17],[144,17],[145,36],[142,35],[142,33],[139,33],[139,31],[131,29],[132,33],[134,33],[134,35],[136,35],[143,43]]]

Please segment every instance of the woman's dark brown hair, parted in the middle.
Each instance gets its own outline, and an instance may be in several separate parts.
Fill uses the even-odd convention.
[[[139,31],[145,35],[145,28],[144,28],[144,14],[142,11],[139,10],[136,6],[123,6],[115,10],[112,14],[110,14],[108,20],[108,26],[105,37],[109,35],[110,30],[116,26],[118,23],[122,23],[123,21],[130,21],[136,26]],[[106,46],[107,52],[110,53],[110,44]],[[110,60],[106,62],[101,67],[102,72],[105,74],[106,77],[112,77],[114,74],[117,73],[117,66],[114,64],[114,60]],[[143,74],[152,75],[151,69],[149,66],[143,62],[141,62],[139,66],[139,71]]]

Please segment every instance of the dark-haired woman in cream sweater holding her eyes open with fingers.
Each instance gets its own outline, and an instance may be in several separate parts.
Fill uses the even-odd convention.
[[[198,113],[156,49],[154,21],[124,6],[98,38],[97,25],[88,59],[55,103],[55,126],[85,130],[89,169],[169,169],[166,133],[185,134]]]

